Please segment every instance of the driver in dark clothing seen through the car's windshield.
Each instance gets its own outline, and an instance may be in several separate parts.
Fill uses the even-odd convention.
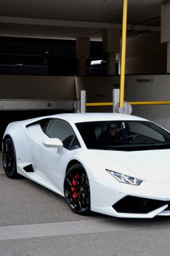
[[[115,122],[108,125],[108,129],[101,134],[98,139],[98,145],[115,145],[122,143],[126,139],[127,133],[123,129],[121,122]]]

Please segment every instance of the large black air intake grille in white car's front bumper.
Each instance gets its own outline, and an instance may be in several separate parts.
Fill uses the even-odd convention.
[[[116,210],[116,212],[121,213],[148,214],[149,212],[152,212],[166,204],[169,204],[170,209],[170,201],[160,201],[142,197],[126,196],[115,203],[112,207],[114,210]]]

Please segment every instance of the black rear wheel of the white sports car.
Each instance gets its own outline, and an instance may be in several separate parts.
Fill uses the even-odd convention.
[[[3,143],[3,169],[7,177],[18,177],[16,171],[16,151],[12,139],[8,138]]]

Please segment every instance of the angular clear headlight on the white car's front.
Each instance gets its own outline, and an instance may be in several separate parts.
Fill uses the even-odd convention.
[[[131,176],[124,175],[122,173],[116,173],[116,171],[110,171],[107,169],[106,169],[106,171],[108,171],[108,173],[110,173],[112,176],[114,176],[116,178],[116,180],[118,180],[118,182],[131,184],[131,185],[135,185],[135,186],[139,186],[141,184],[141,182],[143,182],[143,180],[139,180],[139,179],[137,179],[137,177],[131,177]]]

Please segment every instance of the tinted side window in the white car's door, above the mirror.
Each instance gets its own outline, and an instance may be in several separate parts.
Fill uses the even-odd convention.
[[[80,147],[75,132],[71,126],[61,119],[51,119],[46,123],[44,132],[50,138],[57,138],[63,142],[63,147],[67,150],[74,150]]]

